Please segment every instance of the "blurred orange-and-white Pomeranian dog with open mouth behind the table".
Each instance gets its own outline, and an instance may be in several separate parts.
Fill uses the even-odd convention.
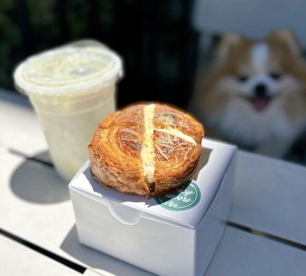
[[[200,72],[191,111],[207,134],[283,157],[306,127],[306,66],[289,30],[262,41],[224,34]]]

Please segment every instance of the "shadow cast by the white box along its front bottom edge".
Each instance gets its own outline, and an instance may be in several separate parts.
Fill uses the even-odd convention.
[[[73,226],[73,228],[71,228],[69,233],[66,235],[64,242],[61,244],[61,249],[90,268],[104,270],[108,273],[113,273],[113,275],[153,275],[152,273],[145,272],[136,266],[119,261],[114,257],[79,244],[76,226]]]

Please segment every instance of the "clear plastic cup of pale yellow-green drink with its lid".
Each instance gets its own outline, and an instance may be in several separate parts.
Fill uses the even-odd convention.
[[[55,168],[66,181],[88,159],[87,146],[99,121],[115,111],[122,75],[120,57],[93,40],[29,57],[15,70],[15,85],[30,98]]]

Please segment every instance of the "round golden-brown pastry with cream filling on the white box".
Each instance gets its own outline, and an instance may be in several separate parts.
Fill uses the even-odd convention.
[[[202,126],[191,115],[159,103],[135,104],[108,115],[88,146],[91,173],[122,193],[159,197],[193,174]]]

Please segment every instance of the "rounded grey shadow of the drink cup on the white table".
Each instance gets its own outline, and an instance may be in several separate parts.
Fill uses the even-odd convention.
[[[19,155],[13,150],[12,153]],[[12,173],[10,187],[17,197],[37,204],[53,204],[70,198],[68,184],[47,160],[48,151],[40,152],[26,159]]]

